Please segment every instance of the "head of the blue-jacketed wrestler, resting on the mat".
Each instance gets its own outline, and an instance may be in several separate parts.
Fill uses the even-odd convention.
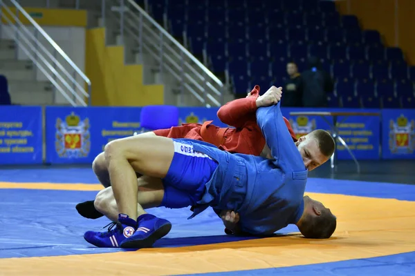
[[[328,239],[334,233],[337,219],[320,201],[305,196],[304,212],[297,226],[308,239]]]

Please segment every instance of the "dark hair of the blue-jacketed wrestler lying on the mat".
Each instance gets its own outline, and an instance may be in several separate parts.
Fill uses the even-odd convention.
[[[306,215],[299,231],[308,239],[329,239],[337,226],[337,219],[328,210],[319,216]]]

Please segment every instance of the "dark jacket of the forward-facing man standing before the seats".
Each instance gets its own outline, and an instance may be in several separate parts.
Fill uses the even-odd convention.
[[[284,83],[282,106],[301,107],[302,106],[302,77],[298,73]]]

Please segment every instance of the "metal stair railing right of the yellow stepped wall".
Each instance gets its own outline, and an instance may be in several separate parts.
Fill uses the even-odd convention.
[[[102,0],[101,13],[103,26],[107,27],[107,19],[118,24],[121,44],[126,37],[133,39],[141,61],[143,54],[150,55],[158,64],[160,77],[167,73],[174,78],[181,103],[183,97],[190,94],[202,106],[223,104],[225,86],[222,81],[135,1]]]

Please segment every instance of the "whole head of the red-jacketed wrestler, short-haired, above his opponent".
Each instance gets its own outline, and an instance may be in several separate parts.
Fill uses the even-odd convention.
[[[307,170],[324,164],[335,150],[334,139],[326,130],[314,130],[295,142]]]

